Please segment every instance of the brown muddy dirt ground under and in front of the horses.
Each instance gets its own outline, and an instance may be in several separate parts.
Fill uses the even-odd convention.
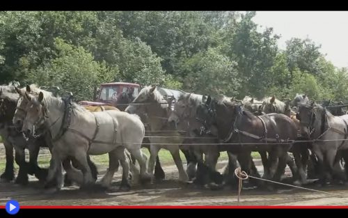
[[[49,154],[46,151],[43,155]],[[3,161],[2,144],[0,158]],[[218,168],[224,164],[226,161],[219,162]],[[256,164],[262,172],[260,161],[256,161]],[[97,165],[97,167],[101,178],[107,166]],[[106,192],[86,193],[80,191],[77,186],[72,186],[64,187],[55,194],[47,194],[42,189],[42,184],[33,176],[30,176],[31,182],[26,187],[1,182],[0,205],[5,205],[10,198],[19,201],[20,205],[348,205],[348,187],[345,185],[319,188],[330,194],[289,187],[280,187],[274,192],[245,187],[238,203],[236,189],[225,187],[212,191],[192,184],[182,184],[177,181],[175,165],[164,166],[164,171],[166,180],[163,182],[136,185],[129,192],[118,192],[120,171],[114,176],[113,189]],[[291,176],[288,169],[286,175]],[[315,185],[307,187],[318,189]],[[342,197],[333,194],[341,194]]]

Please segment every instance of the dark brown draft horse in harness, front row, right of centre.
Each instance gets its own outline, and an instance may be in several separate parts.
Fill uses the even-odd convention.
[[[255,173],[251,172],[251,152],[267,151],[268,166],[263,177],[280,180],[285,170],[287,152],[297,136],[297,127],[291,118],[284,114],[255,116],[250,111],[242,110],[237,102],[212,100],[210,96],[200,104],[196,114],[205,129],[217,128],[222,143],[237,143],[222,144],[219,150],[238,153],[242,170]]]

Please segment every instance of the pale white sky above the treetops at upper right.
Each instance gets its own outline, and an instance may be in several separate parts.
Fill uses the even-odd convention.
[[[260,31],[273,27],[281,49],[290,38],[310,38],[333,65],[348,67],[348,11],[257,11],[253,21]]]

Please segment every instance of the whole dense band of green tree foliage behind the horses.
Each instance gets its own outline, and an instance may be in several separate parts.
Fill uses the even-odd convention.
[[[0,80],[60,86],[92,100],[102,82],[160,84],[243,98],[348,100],[347,69],[312,40],[278,49],[255,12],[3,11]]]

